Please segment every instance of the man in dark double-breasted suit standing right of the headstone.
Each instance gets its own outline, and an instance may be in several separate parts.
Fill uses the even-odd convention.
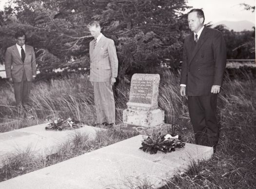
[[[185,38],[180,94],[188,95],[188,109],[196,143],[215,147],[218,142],[217,94],[226,67],[226,45],[218,30],[204,26],[204,13],[188,13],[191,31]]]

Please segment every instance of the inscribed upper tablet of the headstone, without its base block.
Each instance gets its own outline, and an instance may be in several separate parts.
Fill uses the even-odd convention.
[[[159,81],[158,74],[134,74],[128,108],[145,111],[158,109]]]

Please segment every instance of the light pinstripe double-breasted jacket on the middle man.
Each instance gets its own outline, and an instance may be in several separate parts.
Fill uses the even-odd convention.
[[[106,82],[111,77],[118,76],[118,57],[115,43],[104,35],[99,39],[95,48],[94,40],[90,42],[90,81]]]

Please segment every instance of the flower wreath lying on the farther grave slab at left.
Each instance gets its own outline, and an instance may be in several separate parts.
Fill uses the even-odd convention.
[[[83,127],[79,121],[76,121],[75,119],[71,119],[70,117],[67,119],[62,119],[60,117],[51,118],[47,120],[50,122],[48,126],[45,127],[45,130],[57,130],[62,131],[65,130],[72,130],[72,129],[78,129]]]

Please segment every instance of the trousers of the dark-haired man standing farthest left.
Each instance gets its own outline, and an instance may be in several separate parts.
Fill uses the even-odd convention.
[[[25,72],[23,72],[21,82],[13,83],[16,106],[27,105],[31,86],[32,81],[27,81]]]

